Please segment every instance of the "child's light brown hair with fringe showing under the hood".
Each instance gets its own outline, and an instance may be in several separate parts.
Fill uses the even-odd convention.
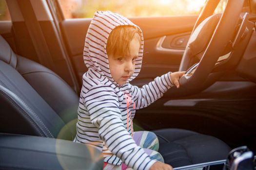
[[[137,33],[137,34],[136,34]],[[136,36],[138,38],[139,44],[141,43],[141,38],[139,36],[138,28],[131,25],[122,25],[116,27],[109,34],[106,51],[108,55],[113,55],[114,57],[126,57],[130,55],[130,42]]]

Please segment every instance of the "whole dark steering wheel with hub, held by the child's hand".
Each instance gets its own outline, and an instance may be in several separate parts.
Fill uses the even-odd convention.
[[[228,0],[223,14],[212,15],[220,0],[207,0],[197,18],[182,56],[179,71],[186,71],[199,60],[193,73],[185,73],[179,83],[185,88],[200,89],[215,67],[218,58],[234,39],[244,0]]]

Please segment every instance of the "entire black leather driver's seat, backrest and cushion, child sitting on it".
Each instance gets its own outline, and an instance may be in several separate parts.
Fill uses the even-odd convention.
[[[73,140],[79,98],[56,73],[15,54],[0,36],[0,133]],[[173,167],[225,159],[221,140],[181,129],[154,131]]]

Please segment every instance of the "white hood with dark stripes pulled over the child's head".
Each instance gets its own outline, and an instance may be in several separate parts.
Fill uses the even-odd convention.
[[[99,74],[107,77],[113,84],[117,86],[119,85],[113,80],[109,70],[106,45],[109,34],[112,32],[112,30],[121,25],[131,25],[137,27],[141,36],[141,45],[138,58],[135,61],[135,71],[131,78],[127,80],[127,82],[132,81],[137,77],[141,68],[144,42],[142,31],[129,19],[110,11],[97,11],[94,14],[88,28],[83,51],[84,63],[88,70],[97,71]]]

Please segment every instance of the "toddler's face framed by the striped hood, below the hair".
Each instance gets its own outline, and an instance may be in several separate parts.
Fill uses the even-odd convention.
[[[134,37],[130,43],[130,56],[108,56],[110,73],[119,85],[124,85],[133,75],[139,48],[138,38]]]

